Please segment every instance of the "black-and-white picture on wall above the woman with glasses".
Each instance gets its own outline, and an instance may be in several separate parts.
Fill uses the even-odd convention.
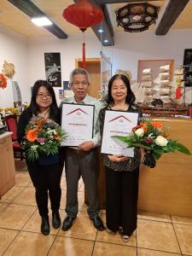
[[[44,53],[46,79],[53,87],[61,87],[61,56],[59,52]]]

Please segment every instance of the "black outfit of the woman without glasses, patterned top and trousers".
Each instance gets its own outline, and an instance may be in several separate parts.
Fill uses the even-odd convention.
[[[110,107],[102,108],[99,119],[101,134],[103,131],[104,116]],[[139,113],[136,106],[130,106],[128,112]],[[135,149],[134,157],[124,162],[112,162],[103,154],[106,170],[106,222],[109,230],[116,232],[123,228],[123,235],[131,236],[137,229],[137,199],[140,153]]]

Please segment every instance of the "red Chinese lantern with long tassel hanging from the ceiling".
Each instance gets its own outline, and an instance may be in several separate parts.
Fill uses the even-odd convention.
[[[64,9],[63,18],[74,26],[78,26],[84,33],[88,27],[96,26],[103,20],[102,10],[88,0],[79,0]],[[83,43],[82,67],[85,68],[85,42]]]

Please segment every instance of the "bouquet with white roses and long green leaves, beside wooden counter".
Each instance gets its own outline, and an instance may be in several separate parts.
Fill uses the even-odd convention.
[[[176,140],[168,138],[162,123],[149,119],[143,120],[140,125],[133,127],[130,136],[115,136],[120,141],[127,143],[128,148],[144,148],[146,151],[143,164],[153,168],[156,160],[164,153],[179,151],[191,154],[189,149]]]

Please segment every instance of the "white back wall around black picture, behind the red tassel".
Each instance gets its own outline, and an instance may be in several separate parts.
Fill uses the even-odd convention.
[[[38,79],[45,79],[44,69],[44,53],[60,52],[61,53],[61,81],[69,79],[69,74],[75,68],[75,59],[82,58],[82,41],[83,34],[79,36],[71,36],[67,40],[38,39],[28,41],[28,63],[29,84],[31,86]],[[86,35],[86,57],[94,58],[100,56],[101,44],[95,35]],[[55,95],[59,103],[58,90],[61,87],[55,87]]]

